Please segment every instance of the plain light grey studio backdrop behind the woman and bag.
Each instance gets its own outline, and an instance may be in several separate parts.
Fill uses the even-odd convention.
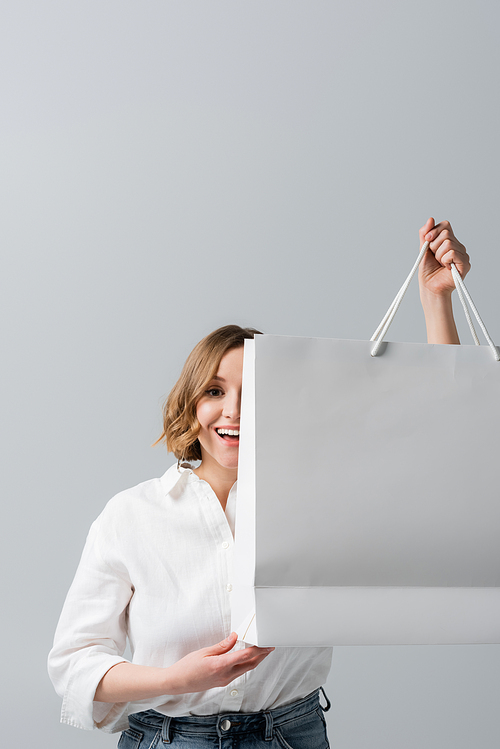
[[[203,335],[369,337],[433,215],[500,339],[499,21],[492,0],[2,5],[6,743],[116,744],[58,724],[46,653],[90,523],[171,462],[160,403]],[[415,286],[389,337],[424,336]],[[497,746],[499,666],[338,648],[332,744]]]

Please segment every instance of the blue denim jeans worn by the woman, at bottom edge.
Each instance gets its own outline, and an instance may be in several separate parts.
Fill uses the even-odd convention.
[[[170,718],[129,715],[118,749],[329,749],[319,690],[276,710]]]

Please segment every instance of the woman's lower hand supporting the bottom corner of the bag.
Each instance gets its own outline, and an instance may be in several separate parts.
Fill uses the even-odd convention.
[[[204,692],[213,687],[225,687],[258,666],[274,650],[256,646],[233,650],[237,639],[237,634],[232,632],[217,645],[188,653],[170,666],[167,670],[172,687],[167,694]]]

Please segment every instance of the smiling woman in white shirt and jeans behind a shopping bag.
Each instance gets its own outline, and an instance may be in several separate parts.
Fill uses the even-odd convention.
[[[459,343],[450,263],[465,276],[468,255],[448,222],[429,219],[420,240],[428,340]],[[191,352],[164,413],[178,465],[108,503],[64,605],[49,656],[61,719],[123,730],[120,747],[328,746],[318,689],[331,649],[229,634],[243,343],[257,332],[226,326]]]

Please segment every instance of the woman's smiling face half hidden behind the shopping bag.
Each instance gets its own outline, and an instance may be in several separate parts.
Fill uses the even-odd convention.
[[[243,347],[225,354],[217,374],[196,406],[200,422],[198,440],[205,468],[215,461],[236,472],[240,444],[241,376]]]

